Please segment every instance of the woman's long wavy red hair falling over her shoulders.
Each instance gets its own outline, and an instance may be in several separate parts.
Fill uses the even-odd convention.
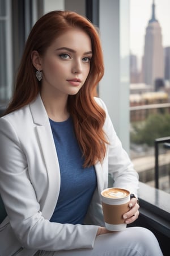
[[[107,141],[103,131],[105,112],[94,99],[96,86],[104,75],[103,53],[96,28],[83,16],[71,11],[51,11],[37,20],[25,44],[14,94],[5,114],[29,104],[40,92],[41,82],[35,76],[32,51],[44,55],[54,39],[73,27],[85,31],[92,43],[93,55],[87,80],[76,95],[68,98],[69,113],[73,117],[76,138],[82,149],[84,167],[87,167],[103,160]]]

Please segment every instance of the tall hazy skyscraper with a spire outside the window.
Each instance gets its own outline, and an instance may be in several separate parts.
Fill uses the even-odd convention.
[[[148,22],[143,56],[143,80],[155,88],[155,80],[164,78],[164,51],[162,32],[155,18],[155,1],[152,3],[152,18]]]

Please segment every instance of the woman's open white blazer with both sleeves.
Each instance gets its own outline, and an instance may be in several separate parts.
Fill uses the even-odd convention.
[[[84,225],[49,221],[59,195],[60,172],[40,95],[31,104],[0,118],[0,193],[7,212],[0,225],[1,256],[92,248],[97,229],[103,225],[100,192],[107,188],[108,173],[114,187],[137,195],[138,174],[121,146],[103,101],[96,101],[107,114],[104,130],[110,144],[103,163],[95,164],[97,189]]]

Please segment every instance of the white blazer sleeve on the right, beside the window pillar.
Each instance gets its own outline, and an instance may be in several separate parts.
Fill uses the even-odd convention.
[[[134,170],[133,163],[122,147],[122,143],[114,130],[107,107],[100,98],[97,101],[106,113],[104,131],[109,144],[107,146],[108,162],[107,160],[105,162],[108,166],[108,172],[113,179],[113,186],[128,189],[130,193],[134,193],[137,196],[139,185],[138,173]],[[125,131],[125,133],[129,133],[129,131]]]

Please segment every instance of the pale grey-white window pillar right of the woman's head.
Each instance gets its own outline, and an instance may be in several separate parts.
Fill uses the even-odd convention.
[[[99,16],[105,62],[99,96],[129,152],[129,0],[100,0]]]

